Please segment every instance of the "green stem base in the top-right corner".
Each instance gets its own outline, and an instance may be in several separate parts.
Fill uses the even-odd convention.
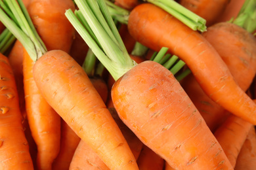
[[[249,33],[253,33],[256,29],[256,1],[246,0],[238,16],[232,23],[243,27]]]

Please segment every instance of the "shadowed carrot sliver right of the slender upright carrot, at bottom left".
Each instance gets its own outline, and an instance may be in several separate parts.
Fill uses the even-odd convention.
[[[64,120],[61,121],[61,139],[60,152],[53,162],[53,170],[69,169],[70,163],[81,139],[75,132],[66,124]]]

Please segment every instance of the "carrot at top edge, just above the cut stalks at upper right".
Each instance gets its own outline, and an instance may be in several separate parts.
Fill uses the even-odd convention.
[[[180,3],[186,9],[198,14],[206,20],[206,25],[215,24],[219,16],[224,12],[229,0],[181,0]]]

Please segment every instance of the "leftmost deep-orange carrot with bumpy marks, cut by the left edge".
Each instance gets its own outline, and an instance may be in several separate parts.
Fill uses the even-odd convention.
[[[18,92],[7,57],[0,53],[1,169],[33,169],[22,126]]]

